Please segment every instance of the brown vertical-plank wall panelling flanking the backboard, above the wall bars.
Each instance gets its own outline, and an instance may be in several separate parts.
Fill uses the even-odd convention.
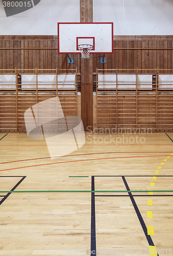
[[[82,0],[84,1],[84,0]],[[91,0],[86,2],[91,5]],[[92,9],[89,8],[89,13]],[[4,38],[4,40],[2,39]],[[49,40],[50,38],[50,40]],[[149,37],[138,36],[119,36],[120,39],[114,40],[113,54],[105,54],[106,63],[100,64],[100,57],[93,59],[93,72],[96,69],[168,69],[168,73],[173,70],[173,37]],[[122,38],[125,38],[122,40]],[[129,38],[127,40],[127,38]],[[133,40],[130,40],[133,38]],[[140,39],[142,38],[142,39]],[[147,40],[146,40],[147,38]],[[163,38],[163,39],[162,39]],[[165,39],[169,38],[169,39]],[[32,40],[31,40],[32,39]],[[57,51],[57,38],[55,36],[0,36],[1,48],[15,48],[2,50],[0,54],[1,69],[78,69],[80,73],[81,61],[75,59],[74,64],[68,63],[66,54],[59,54]],[[16,48],[19,48],[18,50]],[[31,48],[31,49],[21,49]],[[34,50],[32,48],[37,48]],[[39,49],[39,48],[46,48]],[[50,49],[49,48],[53,48]],[[126,49],[128,48],[128,49]],[[135,48],[139,50],[131,50]],[[147,50],[143,50],[145,48]],[[150,48],[155,50],[149,50]],[[164,50],[169,48],[169,50]],[[124,49],[124,50],[123,50]],[[158,49],[158,50],[157,50]],[[162,50],[163,49],[163,50]],[[99,56],[100,54],[97,54]],[[72,58],[80,57],[80,54],[72,54]],[[143,73],[147,71],[142,71]],[[165,71],[166,72],[166,71]]]

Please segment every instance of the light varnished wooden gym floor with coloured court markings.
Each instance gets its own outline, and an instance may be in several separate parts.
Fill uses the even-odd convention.
[[[45,141],[5,135],[0,136],[0,200],[5,199],[0,255],[66,255],[82,249],[88,251],[81,255],[90,254],[95,232],[97,254],[146,255],[155,247],[159,255],[173,253],[173,134],[86,133],[78,151],[52,160]],[[2,192],[12,188],[23,192]],[[100,192],[94,195],[93,188]],[[128,188],[164,191],[110,192]]]

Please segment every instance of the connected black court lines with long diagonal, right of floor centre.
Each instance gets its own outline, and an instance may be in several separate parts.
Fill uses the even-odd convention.
[[[92,191],[95,190],[95,182],[94,182],[94,178],[95,177],[121,177],[124,185],[126,187],[126,189],[129,191],[130,188],[125,180],[125,177],[153,177],[154,175],[125,175],[125,176],[119,176],[119,175],[96,175],[96,176],[92,176]],[[173,177],[173,175],[157,175],[157,177]],[[128,195],[95,195],[95,193],[91,193],[91,255],[95,255],[96,256],[96,213],[95,213],[95,197],[129,197],[132,201],[132,204],[134,206],[134,209],[136,211],[136,214],[138,216],[139,222],[142,226],[142,229],[144,231],[145,237],[147,239],[147,242],[150,246],[155,246],[153,243],[152,238],[148,235],[147,233],[147,227],[145,225],[145,222],[141,216],[141,213],[139,211],[139,208],[135,202],[134,197],[140,197],[141,195],[135,195],[133,196],[131,192],[128,192]],[[165,196],[173,196],[173,195],[143,195],[141,197],[165,197]],[[94,253],[95,252],[95,253]],[[157,253],[157,255],[159,256],[159,254]]]

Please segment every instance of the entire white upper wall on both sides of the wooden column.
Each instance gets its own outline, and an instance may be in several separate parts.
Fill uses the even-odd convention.
[[[114,35],[172,35],[173,0],[93,0],[94,22],[114,22]],[[57,35],[58,22],[80,22],[80,0],[41,0],[6,17],[0,0],[1,35]]]

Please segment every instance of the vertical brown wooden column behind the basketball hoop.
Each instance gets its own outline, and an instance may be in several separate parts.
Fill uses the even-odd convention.
[[[93,22],[93,0],[80,0],[80,22]],[[86,35],[87,36],[87,35]],[[81,118],[93,130],[93,59],[81,59]]]

